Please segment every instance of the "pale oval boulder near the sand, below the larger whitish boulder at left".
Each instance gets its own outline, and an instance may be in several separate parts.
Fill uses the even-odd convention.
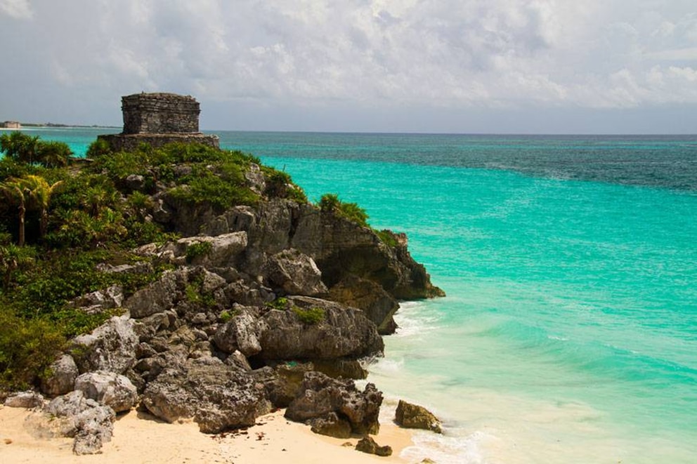
[[[131,380],[113,372],[84,373],[75,380],[75,390],[117,413],[129,411],[138,402],[138,391]]]

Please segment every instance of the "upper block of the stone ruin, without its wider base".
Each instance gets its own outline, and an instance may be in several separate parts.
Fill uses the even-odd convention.
[[[124,134],[197,133],[199,102],[174,93],[136,93],[122,97]]]

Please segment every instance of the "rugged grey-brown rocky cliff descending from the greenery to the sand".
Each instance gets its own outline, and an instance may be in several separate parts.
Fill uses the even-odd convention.
[[[115,185],[146,196],[138,214],[181,238],[136,248],[136,264],[99,269],[167,270],[132,294],[110,286],[71,303],[122,315],[74,338],[53,364],[41,385],[55,398],[48,410],[89,411],[108,429],[114,411],[139,403],[169,422],[193,418],[203,432],[221,432],[287,406],[289,418],[317,430],[376,432],[382,395],[337,378],[365,376],[364,360],[381,355],[380,335],[395,329],[398,300],[443,295],[406,238],[383,232],[387,244],[254,163],[243,183],[255,201],[233,206],[192,201],[195,167],[166,166],[190,180],[182,185],[163,181],[163,166],[122,171]],[[86,427],[73,427],[87,437],[76,452],[110,437]]]

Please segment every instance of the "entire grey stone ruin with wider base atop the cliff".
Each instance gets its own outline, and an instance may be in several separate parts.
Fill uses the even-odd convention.
[[[198,130],[199,102],[176,93],[134,93],[121,98],[124,129],[120,134],[98,135],[111,149],[133,151],[141,143],[162,147],[170,142],[202,143],[219,147],[217,135]]]

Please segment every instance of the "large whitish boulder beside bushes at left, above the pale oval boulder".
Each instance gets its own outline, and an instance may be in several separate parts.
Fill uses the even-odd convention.
[[[124,373],[136,364],[133,323],[128,316],[112,317],[92,333],[75,337],[71,352],[79,371]]]

